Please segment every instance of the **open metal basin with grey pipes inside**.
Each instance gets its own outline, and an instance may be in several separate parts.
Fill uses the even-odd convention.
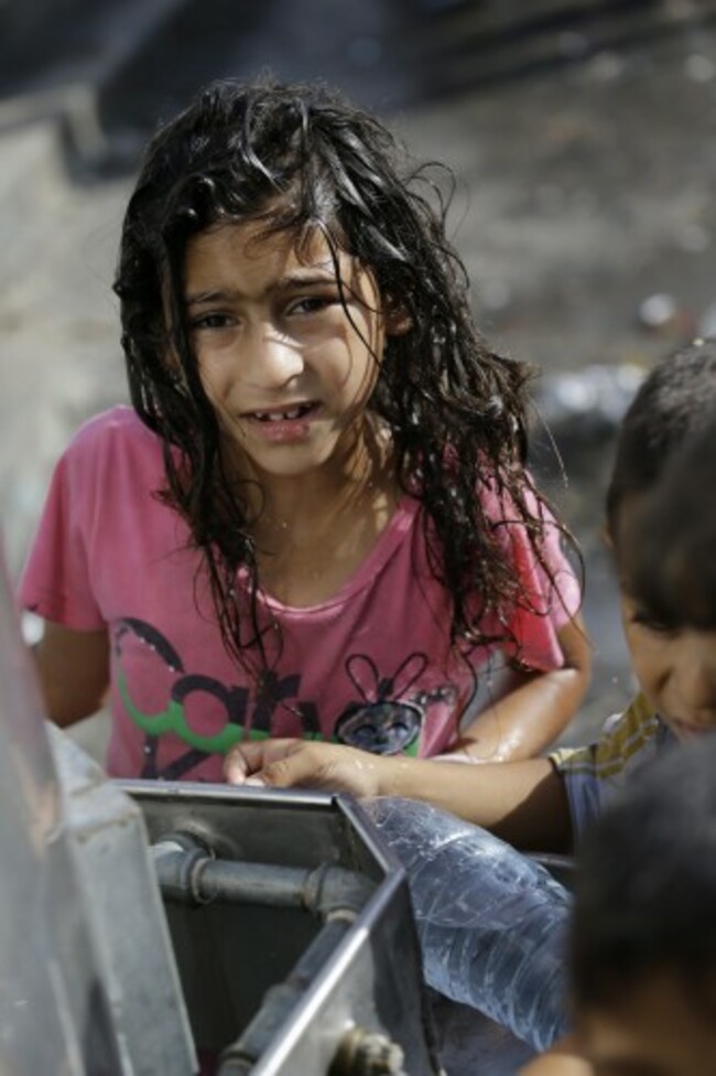
[[[404,874],[358,805],[118,784],[144,816],[204,1072],[440,1072]]]

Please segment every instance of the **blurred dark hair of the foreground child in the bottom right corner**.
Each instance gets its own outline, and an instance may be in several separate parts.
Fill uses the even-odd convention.
[[[650,977],[716,1014],[716,738],[634,778],[581,849],[571,969],[579,1013],[619,1011]],[[670,1069],[671,1070],[671,1069]]]

